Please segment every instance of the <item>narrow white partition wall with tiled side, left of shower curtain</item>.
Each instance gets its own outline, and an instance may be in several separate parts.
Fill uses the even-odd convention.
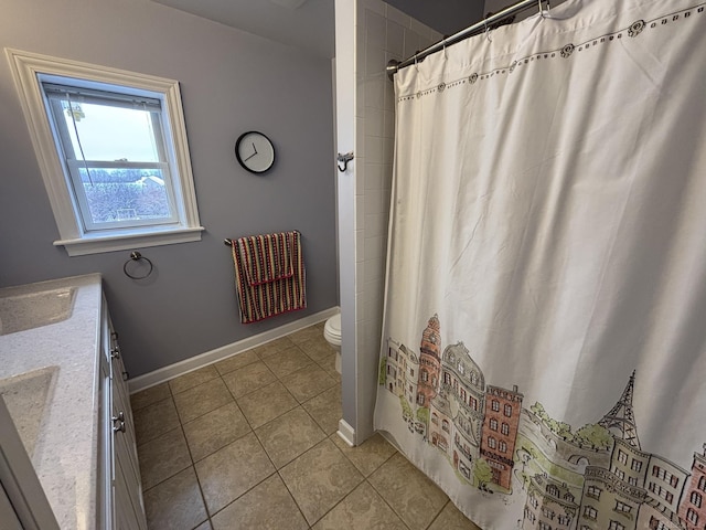
[[[354,252],[344,252],[346,242],[340,241],[342,391],[343,418],[355,431],[360,443],[373,432],[393,173],[395,98],[385,66],[391,59],[402,61],[429,46],[441,39],[441,34],[379,0],[357,0],[354,7],[352,3],[336,1],[336,99],[338,149],[355,153],[352,169],[339,177],[340,189],[349,187],[349,194],[354,193],[354,201],[345,202],[350,197],[339,192],[339,222],[342,216],[344,222],[347,220],[346,208],[353,209],[349,222],[355,241],[351,241],[349,247],[354,244]],[[342,15],[346,9],[349,17]],[[354,33],[350,32],[352,18]],[[353,72],[351,63],[346,66],[339,52],[353,60]],[[354,85],[345,84],[345,80],[353,78]],[[340,230],[345,235],[346,227],[342,225]],[[352,285],[346,282],[352,267],[351,274],[345,274],[344,267],[351,266],[347,259],[353,258],[355,282]],[[355,377],[351,378],[351,373]]]

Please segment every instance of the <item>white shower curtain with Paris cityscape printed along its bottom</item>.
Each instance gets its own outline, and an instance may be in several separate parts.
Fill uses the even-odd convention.
[[[395,97],[375,428],[484,530],[704,529],[705,4],[568,0]]]

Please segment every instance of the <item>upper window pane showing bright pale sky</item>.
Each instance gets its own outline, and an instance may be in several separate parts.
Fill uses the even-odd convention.
[[[77,102],[69,105],[67,99],[62,99],[62,108],[76,160],[82,160],[83,149],[86,160],[160,161],[149,110]]]

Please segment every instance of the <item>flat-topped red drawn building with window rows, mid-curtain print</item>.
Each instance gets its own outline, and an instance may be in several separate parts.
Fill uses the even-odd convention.
[[[490,464],[493,483],[507,490],[512,489],[513,454],[523,398],[517,385],[512,390],[491,385],[485,389],[481,456]]]

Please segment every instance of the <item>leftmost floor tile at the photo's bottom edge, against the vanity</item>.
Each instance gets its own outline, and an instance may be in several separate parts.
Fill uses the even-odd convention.
[[[193,467],[145,491],[150,530],[191,530],[206,521],[206,509]]]

